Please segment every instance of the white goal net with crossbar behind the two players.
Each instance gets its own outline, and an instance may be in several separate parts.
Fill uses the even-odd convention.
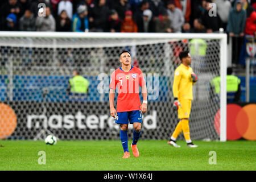
[[[59,139],[119,139],[108,92],[110,74],[121,67],[119,53],[127,49],[147,82],[141,139],[169,139],[179,122],[172,108],[172,84],[178,55],[189,50],[199,78],[193,86],[191,138],[220,139],[214,120],[220,119],[216,113],[222,109],[220,133],[225,140],[225,89],[221,97],[210,91],[214,77],[225,77],[225,40],[224,34],[2,32],[0,139],[43,139],[47,134]],[[77,68],[90,82],[87,94],[67,93]],[[129,137],[132,129],[130,125]]]

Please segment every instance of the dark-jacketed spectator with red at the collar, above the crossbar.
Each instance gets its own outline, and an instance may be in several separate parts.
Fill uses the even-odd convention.
[[[155,32],[172,32],[171,30],[171,20],[169,19],[167,10],[163,9],[154,20]]]

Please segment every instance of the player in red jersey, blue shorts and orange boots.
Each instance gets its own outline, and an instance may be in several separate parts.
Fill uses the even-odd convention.
[[[141,69],[131,65],[129,51],[122,51],[119,57],[122,66],[116,69],[110,80],[109,106],[110,114],[115,123],[120,125],[120,139],[123,146],[123,158],[129,158],[127,129],[128,124],[133,124],[133,155],[138,158],[137,142],[141,136],[142,114],[147,111],[147,87]],[[117,110],[114,107],[115,87],[118,88]],[[139,86],[142,88],[143,102],[139,98]]]

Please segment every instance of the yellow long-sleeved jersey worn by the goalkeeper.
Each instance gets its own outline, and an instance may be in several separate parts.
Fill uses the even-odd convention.
[[[180,64],[174,72],[174,84],[172,85],[172,92],[174,97],[178,100],[193,100],[193,81],[191,77],[193,70],[191,67],[186,67]]]

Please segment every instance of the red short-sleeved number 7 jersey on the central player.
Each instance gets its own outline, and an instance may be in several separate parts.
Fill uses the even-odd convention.
[[[122,68],[116,69],[111,75],[109,88],[118,88],[117,112],[141,110],[139,86],[145,84],[141,69],[133,66],[129,72],[123,71]]]

